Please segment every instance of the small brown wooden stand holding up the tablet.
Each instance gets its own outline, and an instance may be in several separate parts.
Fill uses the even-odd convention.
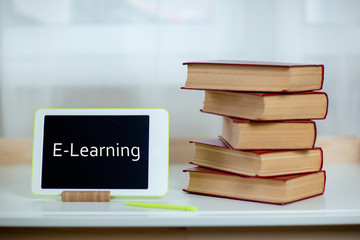
[[[110,202],[110,191],[63,191],[63,202]]]

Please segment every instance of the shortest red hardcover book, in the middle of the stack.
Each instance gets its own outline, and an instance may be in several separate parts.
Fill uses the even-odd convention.
[[[223,117],[222,138],[235,149],[307,149],[316,140],[313,121],[258,122]]]

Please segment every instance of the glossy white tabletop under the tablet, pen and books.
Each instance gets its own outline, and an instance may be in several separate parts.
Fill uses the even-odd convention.
[[[185,193],[190,165],[170,167],[166,196],[114,197],[106,203],[62,202],[31,193],[30,165],[0,165],[0,226],[195,227],[360,224],[360,164],[327,163],[325,194],[284,206]],[[193,205],[196,212],[124,205],[144,201]]]

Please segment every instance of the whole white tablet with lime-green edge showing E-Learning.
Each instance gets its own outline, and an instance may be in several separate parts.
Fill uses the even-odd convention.
[[[40,109],[35,114],[32,191],[168,190],[169,115],[164,109]]]

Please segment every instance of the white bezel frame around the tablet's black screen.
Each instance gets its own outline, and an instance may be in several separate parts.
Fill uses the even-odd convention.
[[[49,115],[148,115],[148,189],[44,189],[41,188],[44,120]],[[32,161],[32,192],[35,195],[60,195],[63,191],[110,191],[112,196],[163,196],[168,191],[169,114],[165,109],[39,109],[35,114]]]

